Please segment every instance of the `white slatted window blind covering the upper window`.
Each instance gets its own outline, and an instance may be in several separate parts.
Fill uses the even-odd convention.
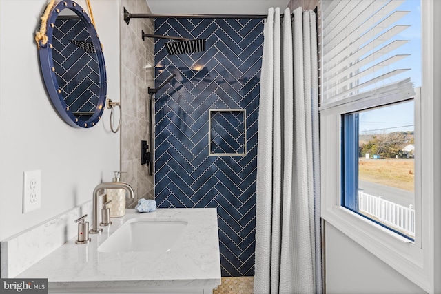
[[[398,36],[409,28],[399,23],[408,13],[398,10],[403,2],[321,1],[321,106],[395,83],[394,77],[410,70],[398,63],[410,55],[399,50],[409,42]]]

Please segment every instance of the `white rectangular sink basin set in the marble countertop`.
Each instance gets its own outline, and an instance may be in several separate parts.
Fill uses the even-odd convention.
[[[188,222],[132,218],[98,247],[100,252],[167,252],[178,242]]]

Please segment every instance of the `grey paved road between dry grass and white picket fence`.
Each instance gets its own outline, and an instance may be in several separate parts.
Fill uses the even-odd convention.
[[[403,189],[393,188],[385,185],[358,180],[358,189],[373,196],[382,196],[384,200],[409,207],[410,204],[415,207],[415,193]]]

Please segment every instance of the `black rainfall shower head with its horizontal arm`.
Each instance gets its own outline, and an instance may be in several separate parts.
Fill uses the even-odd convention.
[[[167,49],[169,55],[191,54],[194,52],[205,51],[205,39],[188,39],[180,36],[161,36],[157,34],[145,34],[144,31],[142,32],[143,40],[145,40],[146,36],[148,38],[177,40],[165,43],[165,49]]]

